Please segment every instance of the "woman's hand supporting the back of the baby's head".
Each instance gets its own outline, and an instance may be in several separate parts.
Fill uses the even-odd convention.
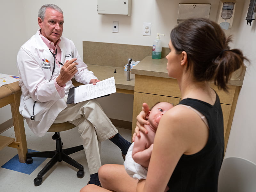
[[[146,120],[148,112],[149,112],[148,104],[143,103],[142,111],[140,111],[139,115],[137,116],[136,128],[132,136],[132,141],[134,141],[136,135],[140,137],[139,131],[143,131],[144,133],[148,134],[148,130],[144,127],[145,124],[147,125],[149,124],[149,122]]]

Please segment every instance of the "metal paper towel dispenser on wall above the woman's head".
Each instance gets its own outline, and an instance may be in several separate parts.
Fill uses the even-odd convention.
[[[211,4],[179,4],[177,23],[181,23],[190,18],[209,19]]]

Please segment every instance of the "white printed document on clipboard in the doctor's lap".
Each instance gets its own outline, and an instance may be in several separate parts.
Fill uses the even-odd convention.
[[[75,103],[95,99],[116,92],[115,78],[110,77],[96,85],[85,84],[75,88]]]

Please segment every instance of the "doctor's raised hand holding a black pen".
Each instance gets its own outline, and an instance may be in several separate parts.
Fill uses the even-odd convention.
[[[70,81],[76,74],[77,69],[75,62],[76,58],[67,60],[65,64],[60,69],[60,75],[56,78],[56,82],[59,86],[63,87],[68,81]]]

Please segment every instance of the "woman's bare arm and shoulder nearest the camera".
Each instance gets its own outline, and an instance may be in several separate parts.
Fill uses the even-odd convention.
[[[208,139],[208,129],[201,118],[184,106],[167,111],[158,125],[147,179],[138,184],[139,192],[164,192],[183,154],[200,151]]]

